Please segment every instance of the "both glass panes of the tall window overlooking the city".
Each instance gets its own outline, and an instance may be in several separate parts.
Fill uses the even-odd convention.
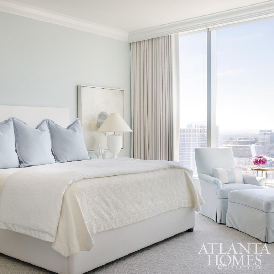
[[[274,164],[274,19],[217,30],[216,61],[216,145],[255,176],[253,156]],[[194,149],[207,145],[206,32],[180,37],[180,91],[180,162],[195,174]]]

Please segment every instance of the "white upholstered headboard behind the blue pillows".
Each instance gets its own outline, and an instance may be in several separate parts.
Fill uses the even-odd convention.
[[[36,127],[45,118],[53,120],[62,127],[69,125],[69,109],[61,107],[20,107],[13,105],[0,105],[0,122],[9,116],[16,117],[31,127]]]

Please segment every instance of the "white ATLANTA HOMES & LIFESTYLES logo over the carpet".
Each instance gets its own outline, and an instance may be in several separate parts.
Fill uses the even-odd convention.
[[[218,269],[261,269],[262,256],[270,254],[266,244],[202,244],[200,255],[208,256],[208,266]]]

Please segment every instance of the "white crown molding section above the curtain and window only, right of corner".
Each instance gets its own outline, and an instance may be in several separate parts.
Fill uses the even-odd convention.
[[[274,0],[248,5],[240,8],[212,13],[209,15],[185,19],[165,25],[160,25],[144,30],[129,33],[129,42],[136,42],[173,33],[200,32],[207,28],[228,26],[240,22],[248,22],[254,19],[267,19],[274,15]]]

